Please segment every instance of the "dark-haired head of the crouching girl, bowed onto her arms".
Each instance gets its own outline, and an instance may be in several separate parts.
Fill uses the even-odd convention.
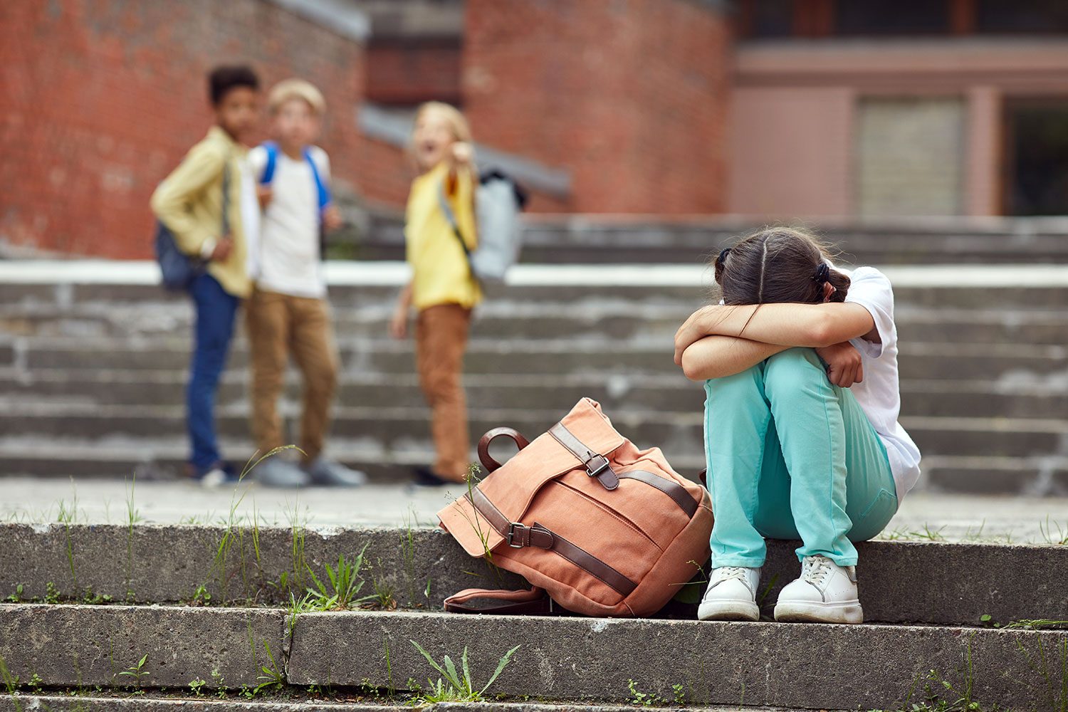
[[[820,242],[800,230],[750,235],[712,262],[724,304],[845,301],[849,278],[831,268]]]

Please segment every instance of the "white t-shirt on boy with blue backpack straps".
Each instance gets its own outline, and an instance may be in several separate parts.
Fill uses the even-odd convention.
[[[318,146],[310,149],[324,185],[330,181],[330,159]],[[252,175],[258,181],[267,167],[267,149],[249,152]],[[260,233],[256,285],[294,297],[321,298],[327,294],[319,259],[319,196],[312,167],[294,160],[281,149],[270,187],[272,197],[264,210]]]

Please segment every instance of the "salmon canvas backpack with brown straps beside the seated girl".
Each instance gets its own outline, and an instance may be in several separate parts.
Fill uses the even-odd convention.
[[[503,465],[488,450],[502,436],[520,448]],[[531,443],[511,428],[490,430],[478,456],[489,474],[438,512],[441,526],[534,589],[467,589],[445,600],[446,611],[546,613],[551,597],[590,616],[650,616],[708,560],[708,492],[660,448],[638,449],[590,398]],[[473,599],[503,603],[473,608]]]

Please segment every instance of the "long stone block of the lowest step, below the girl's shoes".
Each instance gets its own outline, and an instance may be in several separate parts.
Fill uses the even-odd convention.
[[[1068,675],[1057,631],[337,613],[300,618],[289,682],[425,685],[440,675],[412,642],[439,662],[468,647],[476,685],[518,645],[492,692],[566,699],[626,701],[633,681],[666,700],[681,685],[686,703],[898,709],[917,681],[913,701],[925,681],[941,692],[926,677],[938,670],[958,690],[971,679],[983,705],[1019,709],[1048,701]]]

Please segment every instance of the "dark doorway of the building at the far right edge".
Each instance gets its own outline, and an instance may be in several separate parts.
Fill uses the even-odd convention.
[[[1068,215],[1068,99],[1005,106],[1005,215]]]

